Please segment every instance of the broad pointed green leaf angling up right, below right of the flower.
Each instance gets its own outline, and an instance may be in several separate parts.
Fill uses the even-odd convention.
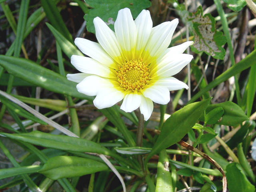
[[[179,142],[196,124],[198,118],[208,106],[210,99],[189,104],[172,114],[164,123],[152,151],[146,158],[146,162],[157,152]]]

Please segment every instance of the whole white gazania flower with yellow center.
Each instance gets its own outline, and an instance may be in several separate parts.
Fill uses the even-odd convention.
[[[140,108],[148,120],[153,102],[167,104],[170,91],[188,89],[172,77],[193,58],[182,54],[192,41],[168,48],[178,19],[152,28],[148,10],[133,20],[130,9],[124,8],[118,12],[115,32],[99,17],[93,22],[99,43],[75,39],[76,46],[89,57],[72,55],[72,65],[82,73],[68,74],[67,78],[78,83],[79,92],[96,96],[93,102],[97,108],[123,100],[122,110]]]

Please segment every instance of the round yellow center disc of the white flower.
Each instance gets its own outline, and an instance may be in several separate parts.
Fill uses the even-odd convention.
[[[117,81],[126,91],[138,91],[149,82],[149,66],[142,59],[125,61],[119,65]]]

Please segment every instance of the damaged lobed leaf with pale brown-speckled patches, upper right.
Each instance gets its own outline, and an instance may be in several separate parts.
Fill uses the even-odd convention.
[[[192,22],[194,44],[191,50],[195,53],[205,52],[216,59],[224,59],[225,50],[222,46],[226,43],[226,37],[215,29],[215,19],[211,14],[203,15],[202,7],[199,6],[195,13],[190,13]]]

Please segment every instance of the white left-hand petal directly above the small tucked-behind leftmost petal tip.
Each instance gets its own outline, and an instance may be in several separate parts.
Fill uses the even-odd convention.
[[[114,72],[110,68],[89,57],[72,55],[71,63],[77,70],[83,73],[95,74],[107,78],[115,77]]]

